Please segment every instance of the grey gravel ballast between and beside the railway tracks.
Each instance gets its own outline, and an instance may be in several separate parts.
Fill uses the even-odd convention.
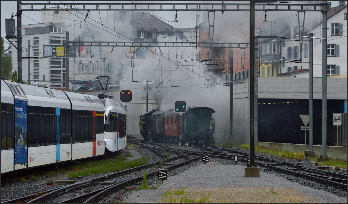
[[[189,149],[190,147],[181,147],[180,149],[185,148]],[[193,149],[198,150],[198,148],[196,149],[196,147],[191,147],[191,150]],[[248,152],[248,150],[240,148],[236,150],[241,152]],[[159,157],[153,156],[155,154],[147,148],[125,148],[119,153],[119,155],[127,154],[133,155],[133,157],[127,157],[127,160],[138,159],[142,156],[145,156],[149,163],[159,160]],[[263,155],[260,153],[255,153],[255,155],[274,158],[275,160],[281,160],[281,158],[271,155]],[[286,160],[286,162],[296,163],[295,160]],[[311,168],[315,167],[314,164],[306,164],[306,166]],[[148,181],[152,183],[152,185],[157,186],[157,189],[123,191],[119,193],[119,198],[110,197],[110,199],[108,199],[108,202],[161,202],[162,194],[168,189],[178,189],[182,187],[187,189],[203,189],[235,186],[269,188],[287,187],[298,190],[299,193],[306,195],[309,198],[308,202],[347,203],[347,189],[342,190],[325,187],[316,182],[287,176],[264,168],[260,168],[260,177],[245,177],[245,167],[245,163],[238,162],[237,165],[235,165],[234,161],[209,157],[209,162],[207,162],[206,164],[199,160],[188,165],[184,165],[173,171],[169,171],[168,179],[164,180],[163,183],[158,181],[157,178],[149,178]],[[342,170],[341,172],[347,173],[346,170]],[[77,180],[79,182],[100,176],[104,176],[104,174],[83,177]],[[63,175],[60,178],[62,177]],[[50,188],[58,187],[45,185],[46,179],[55,180],[55,178],[52,177],[41,178],[37,182],[27,179],[24,182],[14,182],[6,185],[1,185],[1,202],[38,193],[42,190],[48,190]],[[185,191],[187,189],[185,189]]]

